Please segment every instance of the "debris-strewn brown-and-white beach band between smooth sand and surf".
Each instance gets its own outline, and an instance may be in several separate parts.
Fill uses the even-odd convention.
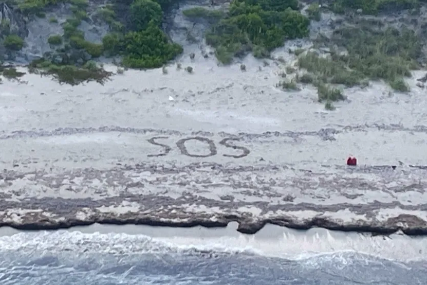
[[[324,168],[196,163],[75,169],[61,175],[8,171],[0,177],[5,201],[0,226],[22,230],[94,223],[226,227],[237,222],[237,230],[244,234],[255,234],[269,223],[301,230],[427,235],[427,204],[422,199],[421,203],[402,201],[408,192],[424,195],[423,167]],[[417,180],[419,184],[414,184]],[[390,187],[394,182],[402,186]]]

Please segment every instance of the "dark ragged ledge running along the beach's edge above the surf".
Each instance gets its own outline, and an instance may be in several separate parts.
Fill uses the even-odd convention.
[[[255,234],[261,230],[264,225],[270,223],[293,229],[307,230],[313,227],[321,227],[330,230],[356,231],[358,233],[370,233],[372,235],[389,235],[402,231],[409,236],[427,235],[427,222],[414,215],[401,214],[385,221],[363,221],[353,222],[336,221],[330,218],[313,218],[307,220],[296,220],[291,217],[276,217],[270,219],[253,220],[236,215],[181,215],[179,218],[164,218],[153,215],[138,215],[137,213],[126,213],[120,216],[112,213],[102,213],[96,216],[87,217],[87,219],[65,218],[52,219],[40,217],[39,213],[22,215],[21,222],[4,222],[2,226],[10,226],[21,230],[55,230],[65,229],[74,226],[86,226],[94,223],[124,225],[151,225],[168,227],[193,227],[203,226],[207,228],[226,227],[230,222],[238,222],[237,231],[243,234]],[[42,214],[43,215],[43,214]]]

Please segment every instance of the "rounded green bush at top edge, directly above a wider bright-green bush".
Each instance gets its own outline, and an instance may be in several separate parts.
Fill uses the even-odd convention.
[[[160,26],[163,19],[163,11],[160,5],[152,0],[135,0],[129,12],[131,13],[132,26],[137,31],[146,29],[150,22]]]

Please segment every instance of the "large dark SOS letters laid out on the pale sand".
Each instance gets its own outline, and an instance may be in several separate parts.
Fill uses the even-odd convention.
[[[147,139],[148,143],[163,148],[163,152],[161,152],[159,154],[148,154],[147,156],[148,157],[156,157],[156,156],[168,155],[169,152],[172,150],[172,147],[165,145],[165,144],[161,144],[158,141],[156,141],[159,139],[167,139],[167,138],[169,138],[169,137],[168,136],[155,136],[155,137],[152,137],[150,139]],[[202,143],[204,143],[207,146],[207,148],[209,149],[209,153],[208,154],[191,154],[189,152],[188,148],[185,146],[185,143],[187,143],[188,141],[191,141],[191,140],[197,140],[197,141],[201,141]],[[242,157],[249,155],[249,153],[250,153],[249,149],[242,147],[242,146],[236,146],[234,144],[230,144],[230,141],[238,141],[238,139],[237,138],[224,138],[221,141],[219,141],[218,144],[220,144],[221,146],[225,146],[226,148],[231,148],[234,150],[240,150],[240,151],[242,151],[242,153],[240,153],[240,154],[222,154],[223,156],[233,157],[233,158],[242,158]],[[214,155],[218,154],[215,142],[212,139],[209,139],[207,137],[194,136],[194,137],[181,138],[180,140],[178,140],[176,142],[176,146],[181,151],[181,154],[187,155],[190,157],[210,157],[210,156],[214,156]]]

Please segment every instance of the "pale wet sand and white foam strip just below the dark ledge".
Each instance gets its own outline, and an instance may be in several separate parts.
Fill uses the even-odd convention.
[[[63,246],[65,248],[77,246],[76,250],[85,254],[99,253],[99,249],[95,250],[91,247],[94,243],[102,246],[105,253],[111,250],[114,254],[117,248],[109,249],[109,241],[116,245],[121,243],[129,245],[131,242],[133,253],[150,253],[151,251],[156,253],[171,251],[248,253],[288,260],[304,260],[324,254],[354,252],[401,262],[425,260],[424,252],[427,250],[427,238],[408,237],[400,233],[384,238],[324,228],[301,231],[266,225],[257,234],[246,235],[238,233],[236,228],[235,222],[224,228],[215,229],[200,226],[176,229],[141,225],[93,224],[59,231],[35,232],[2,227],[0,243],[5,243],[4,248],[9,250],[35,246],[34,250],[60,252]],[[54,247],[49,242],[51,239],[55,240]],[[81,248],[82,244],[85,245],[83,248]],[[121,251],[126,249],[123,248]]]

